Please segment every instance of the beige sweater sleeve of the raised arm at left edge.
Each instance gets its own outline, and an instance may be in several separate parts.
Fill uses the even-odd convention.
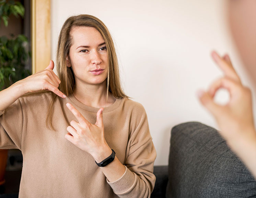
[[[0,149],[21,150],[23,112],[20,100],[0,111]]]

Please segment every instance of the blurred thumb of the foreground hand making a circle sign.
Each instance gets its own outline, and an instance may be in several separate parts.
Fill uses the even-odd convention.
[[[197,96],[201,104],[215,117],[218,118],[221,116],[222,106],[216,104],[213,100],[213,97],[205,91],[197,91]]]

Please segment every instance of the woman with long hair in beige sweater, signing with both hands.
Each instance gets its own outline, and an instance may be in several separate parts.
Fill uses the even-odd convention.
[[[156,152],[147,115],[120,87],[103,22],[69,17],[59,35],[59,77],[53,68],[50,61],[0,92],[0,148],[23,153],[19,196],[150,197]]]

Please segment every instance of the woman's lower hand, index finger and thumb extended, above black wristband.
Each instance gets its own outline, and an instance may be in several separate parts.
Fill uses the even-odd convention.
[[[78,120],[78,122],[74,120],[70,122],[71,126],[67,127],[69,133],[65,135],[66,139],[91,154],[97,162],[107,158],[112,153],[112,150],[104,137],[102,114],[104,108],[98,110],[96,123],[91,124],[73,105],[70,103],[66,105]]]

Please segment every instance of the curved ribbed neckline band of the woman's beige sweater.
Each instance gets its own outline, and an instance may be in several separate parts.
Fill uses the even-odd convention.
[[[98,110],[100,109],[100,108],[97,108],[97,107],[87,106],[87,105],[81,103],[79,100],[77,100],[77,98],[75,98],[75,96],[74,96],[73,94],[71,94],[68,98],[69,98],[70,101],[72,101],[72,103],[74,103],[76,106],[78,106],[78,107],[80,107],[80,108],[82,108],[82,109],[84,109],[84,110],[86,110],[86,111],[90,111],[90,112],[97,113]],[[116,108],[120,105],[121,100],[122,100],[122,98],[116,98],[116,101],[115,101],[112,105],[110,105],[110,106],[108,106],[108,107],[106,107],[106,108],[103,107],[103,108],[104,108],[103,113],[107,113],[107,112],[109,112],[109,111],[113,111],[114,109],[116,109]]]

